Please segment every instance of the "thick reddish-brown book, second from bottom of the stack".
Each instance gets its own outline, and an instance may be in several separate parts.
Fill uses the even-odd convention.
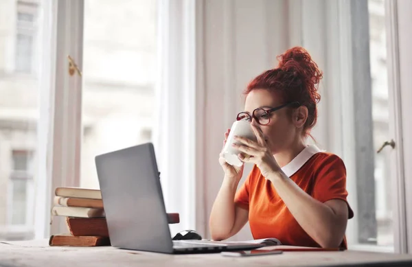
[[[73,236],[108,237],[106,218],[66,218],[67,228]]]

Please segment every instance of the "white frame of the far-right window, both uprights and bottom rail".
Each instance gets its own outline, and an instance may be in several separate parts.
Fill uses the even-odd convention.
[[[342,154],[343,160],[347,165],[347,176],[356,176],[356,158],[354,155],[353,148],[355,147],[355,137],[354,137],[354,106],[353,102],[353,87],[352,87],[352,33],[350,29],[351,12],[350,12],[350,0],[343,0],[338,2],[338,16],[339,21],[339,43],[336,46],[340,48],[339,62],[340,67],[336,69],[336,77],[344,77],[340,79],[339,86],[335,88],[334,91],[338,90],[341,92],[341,112],[349,113],[349,115],[343,117],[340,129],[342,134],[343,146]],[[330,3],[334,4],[334,3]],[[406,220],[406,202],[404,194],[404,174],[403,174],[403,144],[402,144],[402,118],[400,114],[400,89],[399,89],[399,77],[398,76],[398,43],[397,43],[397,32],[396,32],[396,1],[386,1],[385,12],[387,19],[387,40],[388,40],[388,70],[389,73],[389,112],[391,123],[389,133],[393,139],[396,140],[397,148],[392,150],[391,155],[391,178],[392,186],[392,196],[393,198],[393,236],[394,236],[394,246],[376,246],[369,244],[357,244],[355,241],[358,236],[357,224],[351,220],[348,222],[347,233],[349,235],[348,243],[351,249],[358,251],[379,251],[379,252],[396,252],[396,253],[407,253],[407,220]],[[333,18],[332,18],[333,19]],[[343,90],[345,89],[345,90]],[[338,92],[339,93],[339,92]],[[352,133],[352,134],[351,134]],[[391,139],[388,137],[388,139]],[[348,200],[352,207],[356,209],[356,184],[354,180],[347,180],[347,190],[350,191],[350,196]]]

